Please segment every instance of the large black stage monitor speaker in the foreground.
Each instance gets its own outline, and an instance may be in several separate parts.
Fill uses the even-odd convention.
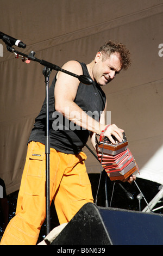
[[[51,245],[163,245],[163,215],[87,203]]]

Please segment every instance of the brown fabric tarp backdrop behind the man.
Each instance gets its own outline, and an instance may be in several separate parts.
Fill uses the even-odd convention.
[[[124,129],[140,178],[163,184],[163,0],[1,0],[0,31],[22,40],[14,48],[62,66],[77,59],[91,62],[103,42],[125,44],[132,65],[104,87],[111,123]],[[22,63],[6,50],[0,57],[0,176],[7,193],[19,189],[27,141],[45,99],[43,66]],[[163,52],[163,51],[162,51]],[[2,56],[3,55],[3,56]],[[52,71],[50,84],[56,71]],[[92,149],[90,141],[87,143]],[[87,148],[88,173],[99,163]]]

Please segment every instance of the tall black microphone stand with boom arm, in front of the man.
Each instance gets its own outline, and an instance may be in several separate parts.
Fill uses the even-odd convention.
[[[8,41],[5,42],[7,46],[7,50],[9,52],[14,52],[18,58],[18,56],[23,57],[23,60],[25,61],[25,57],[27,60],[33,60],[35,62],[40,63],[41,65],[45,66],[43,68],[43,75],[45,76],[45,83],[46,83],[46,138],[45,138],[45,154],[46,154],[46,235],[49,234],[50,231],[50,190],[49,190],[49,155],[50,155],[50,142],[49,142],[49,96],[48,96],[48,84],[49,84],[49,76],[51,74],[52,70],[61,71],[68,75],[71,75],[73,77],[78,78],[78,80],[84,84],[92,84],[93,81],[90,77],[87,77],[85,75],[76,75],[72,72],[69,72],[67,70],[61,69],[59,66],[52,64],[50,62],[47,62],[43,59],[37,59],[35,57],[35,52],[31,51],[28,55],[24,54],[22,52],[16,51],[15,48],[11,47],[12,45],[9,44]]]

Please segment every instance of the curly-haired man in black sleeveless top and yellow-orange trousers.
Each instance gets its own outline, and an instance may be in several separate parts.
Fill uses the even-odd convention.
[[[101,135],[103,130],[112,143],[111,135],[122,141],[123,130],[105,124],[106,99],[101,87],[129,65],[127,48],[109,41],[88,65],[72,60],[62,66],[74,74],[91,77],[93,84],[82,84],[58,72],[49,88],[50,200],[54,199],[60,224],[69,222],[85,203],[93,203],[82,151],[89,135],[93,147],[96,133]],[[35,245],[45,220],[45,109],[44,102],[28,141],[16,216],[5,230],[3,245]],[[94,118],[90,114],[93,112]]]

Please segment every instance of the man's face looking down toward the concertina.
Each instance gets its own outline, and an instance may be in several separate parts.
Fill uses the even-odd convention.
[[[109,57],[103,58],[102,52],[98,52],[92,71],[95,81],[100,86],[105,86],[121,71],[120,55],[118,53],[112,53]]]

